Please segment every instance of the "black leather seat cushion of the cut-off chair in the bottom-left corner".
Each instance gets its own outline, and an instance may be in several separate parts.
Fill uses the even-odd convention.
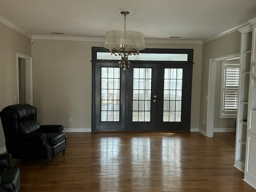
[[[0,171],[2,178],[1,185],[9,191],[17,191],[20,188],[20,170],[18,167],[8,168],[5,171]]]

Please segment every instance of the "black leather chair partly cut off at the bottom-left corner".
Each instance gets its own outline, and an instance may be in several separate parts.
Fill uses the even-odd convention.
[[[0,192],[20,191],[20,170],[12,166],[11,154],[0,154]]]

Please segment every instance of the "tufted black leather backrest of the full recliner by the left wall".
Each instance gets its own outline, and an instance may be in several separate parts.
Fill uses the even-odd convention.
[[[10,126],[10,128],[14,128],[12,132],[32,133],[36,132],[40,128],[40,125],[36,121],[37,111],[34,106],[31,106],[29,104],[14,104],[5,107],[1,113],[4,114],[5,112],[9,115],[12,114],[12,118],[6,119],[7,116],[4,117],[3,115],[2,117],[1,115],[1,120],[3,123],[5,121],[14,121],[12,122],[13,124],[11,122],[6,123],[9,126],[10,124],[12,124],[12,126]]]

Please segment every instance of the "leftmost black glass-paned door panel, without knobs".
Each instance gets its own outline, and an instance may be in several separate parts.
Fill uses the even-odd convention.
[[[96,130],[123,131],[126,122],[126,72],[116,63],[94,63],[93,122]]]

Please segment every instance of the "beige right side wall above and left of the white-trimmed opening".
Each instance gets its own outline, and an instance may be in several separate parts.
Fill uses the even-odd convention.
[[[201,101],[200,101],[200,121],[205,120],[202,124],[202,131],[206,132],[206,116],[207,116],[207,100],[208,94],[208,74],[209,74],[209,60],[228,54],[240,52],[240,38],[239,31],[232,32],[220,38],[203,44],[202,52],[202,84],[201,84]]]

